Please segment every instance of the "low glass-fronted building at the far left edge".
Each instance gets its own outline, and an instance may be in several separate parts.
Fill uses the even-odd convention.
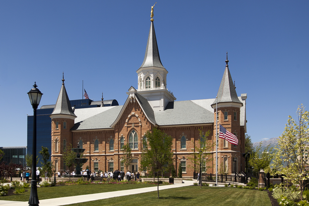
[[[6,165],[10,164],[10,162],[14,164],[26,165],[26,146],[0,147],[0,149],[4,152],[4,156],[1,161],[5,162]]]

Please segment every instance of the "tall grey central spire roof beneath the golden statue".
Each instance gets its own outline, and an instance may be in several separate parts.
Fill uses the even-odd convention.
[[[158,49],[158,44],[157,44],[157,38],[155,36],[155,27],[154,27],[153,21],[151,22],[151,25],[150,25],[145,58],[140,68],[150,67],[150,66],[164,68],[160,60],[159,49]]]

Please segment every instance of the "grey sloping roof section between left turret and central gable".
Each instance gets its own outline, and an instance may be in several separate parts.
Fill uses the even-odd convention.
[[[98,107],[107,108],[107,107]],[[114,106],[107,111],[101,112],[95,116],[89,117],[85,120],[75,122],[71,130],[83,130],[83,129],[107,129],[111,128],[110,125],[116,120],[122,106]],[[83,111],[85,109],[82,109]]]

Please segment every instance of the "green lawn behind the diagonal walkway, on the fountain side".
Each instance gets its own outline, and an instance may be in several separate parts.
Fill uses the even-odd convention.
[[[66,185],[56,187],[38,187],[39,200],[68,197],[75,195],[87,195],[100,192],[111,192],[119,190],[138,189],[143,187],[154,187],[157,185],[147,184],[93,184],[93,185]],[[30,196],[30,188],[27,188],[28,192],[21,194],[1,196],[0,200],[12,200],[12,201],[28,201]]]

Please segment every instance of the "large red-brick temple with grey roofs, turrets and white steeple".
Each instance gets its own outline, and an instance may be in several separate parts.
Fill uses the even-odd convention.
[[[194,171],[188,167],[192,165],[188,157],[194,152],[194,144],[199,144],[199,129],[203,128],[203,134],[210,131],[206,141],[214,143],[217,121],[218,126],[221,124],[239,140],[238,145],[231,145],[221,138],[218,140],[218,166],[223,166],[228,174],[234,170],[238,173],[244,171],[247,94],[237,95],[227,56],[225,62],[217,95],[218,108],[216,99],[205,97],[176,101],[176,97],[166,89],[168,72],[161,63],[154,23],[151,21],[144,61],[136,71],[137,89],[133,86],[129,88],[128,98],[123,106],[104,107],[102,103],[101,107],[74,109],[62,79],[62,87],[50,115],[51,159],[55,170],[68,169],[62,154],[69,144],[76,148],[78,143],[86,149],[84,157],[88,161],[83,168],[89,165],[91,170],[124,169],[121,165],[121,146],[129,143],[132,148],[129,170],[141,172],[144,134],[156,127],[173,137],[172,152],[176,173],[178,165],[181,164],[183,177],[193,177]],[[214,158],[206,172],[215,173],[215,147],[209,152]]]

